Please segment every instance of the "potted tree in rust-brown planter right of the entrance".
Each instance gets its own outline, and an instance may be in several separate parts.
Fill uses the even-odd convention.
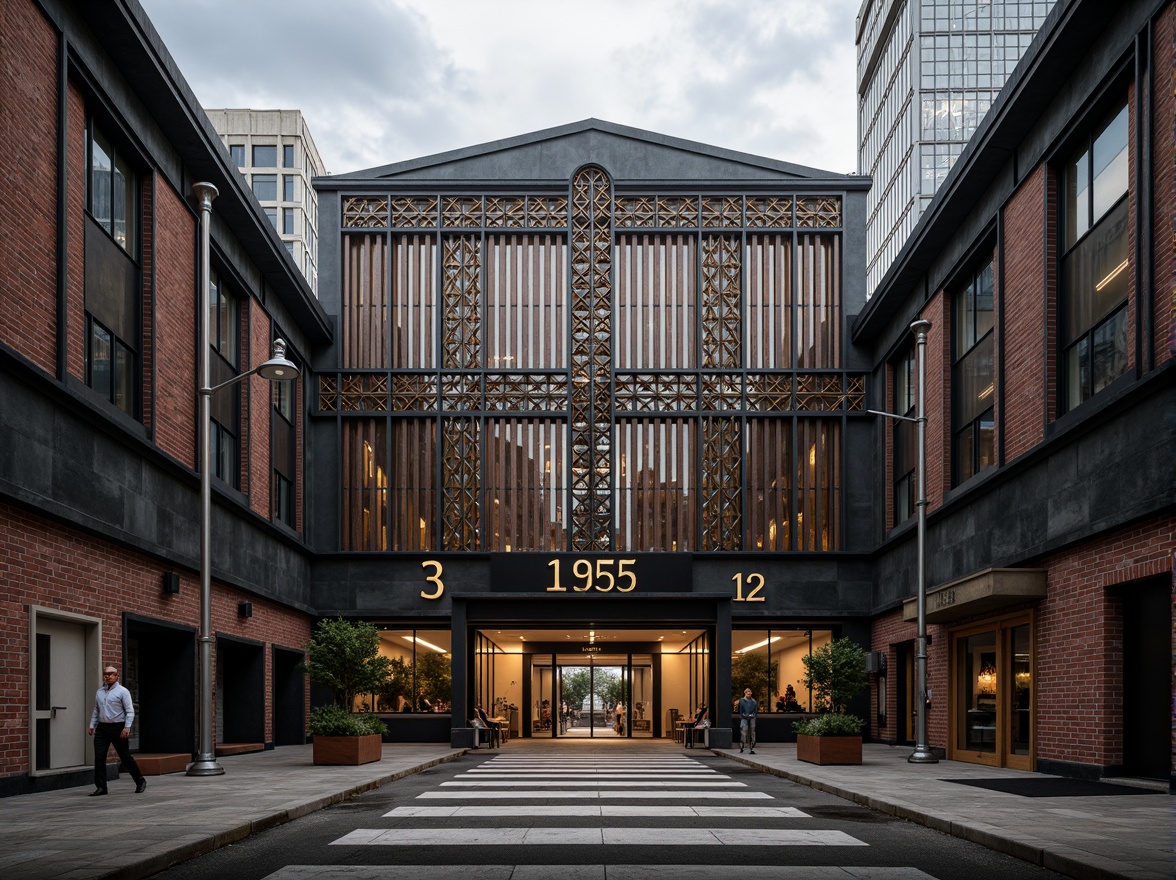
[[[869,686],[866,651],[849,639],[836,639],[801,658],[804,687],[813,688],[826,711],[793,725],[796,758],[810,764],[861,764],[866,720],[846,712],[849,701]]]

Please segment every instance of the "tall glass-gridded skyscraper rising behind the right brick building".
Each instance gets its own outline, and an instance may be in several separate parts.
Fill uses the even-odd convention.
[[[1054,0],[862,0],[857,169],[873,295]]]

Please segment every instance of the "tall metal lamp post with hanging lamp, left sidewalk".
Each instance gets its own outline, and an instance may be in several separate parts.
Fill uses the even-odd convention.
[[[213,749],[213,636],[212,636],[212,396],[214,392],[258,374],[269,381],[296,379],[299,368],[286,359],[286,342],[274,340],[273,356],[235,375],[227,382],[209,386],[209,220],[218,189],[212,184],[193,187],[200,207],[200,741],[196,760],[188,765],[189,776],[220,776],[225,768]]]

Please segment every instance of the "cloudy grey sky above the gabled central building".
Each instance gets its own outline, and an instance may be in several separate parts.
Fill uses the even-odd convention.
[[[206,107],[330,173],[595,116],[853,172],[861,0],[141,0]]]

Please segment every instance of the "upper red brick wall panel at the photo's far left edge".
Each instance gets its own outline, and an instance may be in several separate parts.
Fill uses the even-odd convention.
[[[58,38],[33,4],[0,5],[0,340],[55,373]]]

